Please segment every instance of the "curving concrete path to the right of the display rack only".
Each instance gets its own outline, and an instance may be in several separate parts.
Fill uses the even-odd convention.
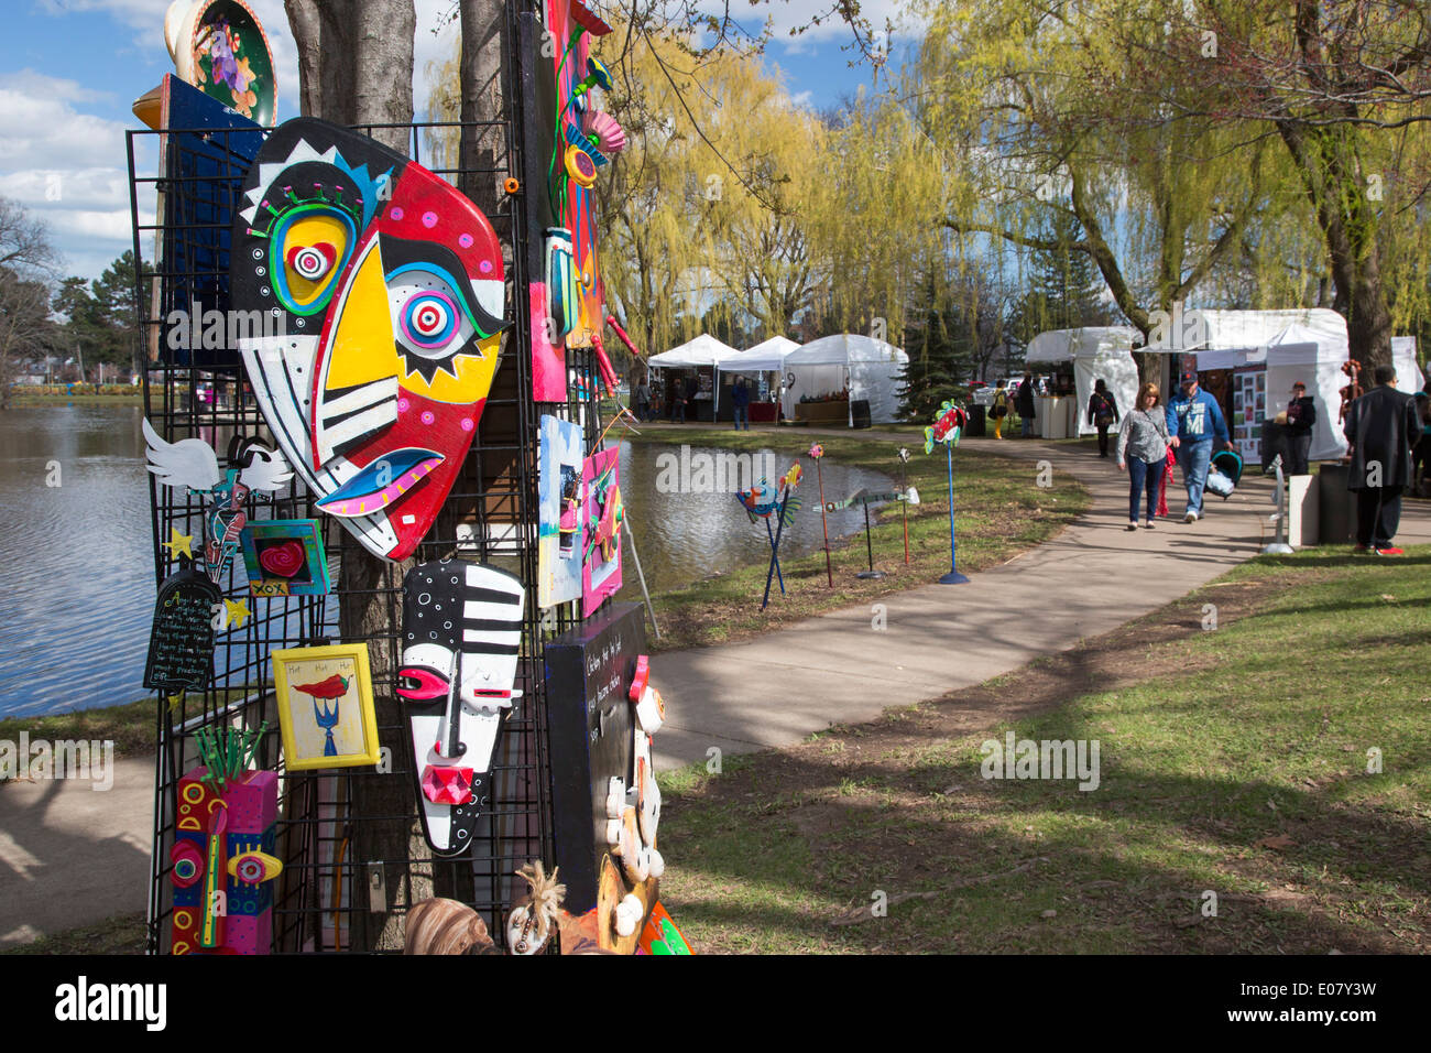
[[[850,434],[800,428],[790,438],[790,431],[763,430],[781,444]],[[910,433],[860,437],[887,437],[912,450],[916,443]],[[1206,517],[1189,524],[1181,521],[1186,493],[1175,473],[1169,519],[1132,533],[1125,530],[1128,476],[1090,444],[966,438],[960,450],[1030,461],[1030,487],[1037,461],[1046,460],[1055,474],[1072,474],[1089,487],[1092,509],[1058,537],[973,574],[967,585],[929,585],[881,597],[883,630],[873,628],[873,607],[863,605],[748,643],[657,655],[653,682],[668,699],[667,722],[655,736],[658,766],[704,762],[711,748],[741,754],[788,745],[833,723],[870,721],[887,706],[982,683],[1161,607],[1272,540],[1275,484],[1251,471],[1226,501],[1209,496]],[[922,446],[914,456],[923,456]],[[1397,539],[1431,542],[1425,504],[1405,504]]]

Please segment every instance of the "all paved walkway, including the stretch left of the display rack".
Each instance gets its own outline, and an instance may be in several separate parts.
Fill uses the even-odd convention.
[[[781,446],[823,430],[771,431]],[[824,434],[844,434],[829,431]],[[910,434],[861,433],[913,446]],[[1168,603],[1254,556],[1266,537],[1272,487],[1248,476],[1206,520],[1123,532],[1126,476],[1086,446],[964,440],[1083,480],[1092,510],[1053,540],[967,585],[930,585],[881,597],[887,628],[867,606],[814,617],[748,643],[663,653],[653,676],[670,699],[657,762],[705,761],[798,742],[831,723],[867,721],[1056,650]],[[956,454],[957,457],[957,454]],[[956,468],[957,471],[957,468]],[[957,474],[956,474],[957,486]],[[1169,506],[1181,510],[1181,490]],[[1408,503],[1398,536],[1431,542],[1431,511]],[[0,947],[114,914],[143,911],[149,880],[153,761],[120,759],[107,792],[84,782],[0,787]]]

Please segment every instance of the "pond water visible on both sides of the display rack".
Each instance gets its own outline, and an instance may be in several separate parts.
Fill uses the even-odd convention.
[[[63,712],[133,702],[142,686],[155,553],[139,405],[19,407],[0,414],[0,715]],[[754,460],[783,474],[803,448]],[[720,451],[691,448],[687,457]],[[680,447],[622,443],[621,494],[653,592],[770,557],[764,521],[751,524],[730,491],[667,491],[665,457]],[[809,460],[804,467],[811,467]],[[770,467],[773,466],[773,467]],[[680,473],[667,476],[680,483]],[[700,483],[691,473],[690,481]],[[824,466],[833,500],[859,487],[887,489],[879,473]],[[781,554],[820,547],[819,490],[800,486],[804,507]],[[830,516],[830,536],[863,529],[859,509]],[[627,560],[624,597],[637,599]]]

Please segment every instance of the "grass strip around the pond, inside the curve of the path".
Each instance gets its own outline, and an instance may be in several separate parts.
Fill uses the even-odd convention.
[[[804,457],[819,441],[829,461],[881,471],[900,481],[897,457],[902,443],[887,438],[846,438],[809,434],[801,428],[784,431],[736,431],[730,427],[648,428],[641,436],[627,436],[635,443],[720,447],[737,453],[774,448],[784,471],[798,456],[806,471],[798,494],[804,499],[800,516],[819,516],[820,490],[814,463]],[[909,566],[904,564],[904,534],[897,503],[870,510],[876,523],[871,532],[874,566],[886,572],[877,580],[856,574],[869,563],[864,532],[831,539],[834,587],[829,586],[824,550],[807,556],[781,553],[780,569],[786,595],[771,590],[770,606],[760,609],[766,587],[767,562],[736,567],[680,589],[651,596],[661,640],[651,640],[657,650],[727,643],[777,629],[827,610],[867,603],[886,593],[934,582],[949,570],[949,479],[944,454],[924,454],[923,434],[910,430],[903,444],[910,450],[909,481],[919,491],[920,503],[909,510]],[[983,570],[1046,542],[1089,507],[1088,490],[1072,476],[1056,473],[1053,486],[1035,483],[1033,461],[999,457],[982,450],[954,450],[954,529],[959,540],[959,569]],[[827,494],[834,499],[836,494]],[[628,573],[634,583],[635,574]],[[628,589],[630,592],[630,589]]]

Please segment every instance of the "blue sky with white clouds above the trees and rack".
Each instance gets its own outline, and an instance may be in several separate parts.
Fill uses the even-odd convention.
[[[279,119],[298,115],[298,63],[282,0],[249,0],[268,30],[278,63]],[[455,29],[434,34],[451,0],[416,0],[416,105],[422,70],[455,47]],[[64,274],[97,277],[132,246],[124,132],[139,128],[130,105],[173,72],[163,43],[169,0],[19,0],[7,4],[0,57],[0,196],[41,216],[63,255]],[[850,69],[850,32],[839,21],[791,39],[790,26],[829,0],[774,0],[774,40],[766,60],[790,93],[823,107],[870,83],[869,67]],[[754,9],[764,14],[764,9]],[[896,0],[873,0],[881,21]],[[896,42],[897,44],[897,42]],[[137,168],[153,173],[152,138],[140,138]],[[149,196],[145,201],[143,196]],[[139,202],[153,222],[152,192]],[[147,254],[147,246],[146,246]]]

